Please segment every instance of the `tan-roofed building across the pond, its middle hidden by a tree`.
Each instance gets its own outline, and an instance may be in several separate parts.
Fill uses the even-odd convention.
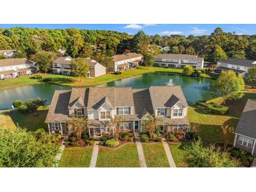
[[[54,74],[71,75],[71,61],[74,60],[72,57],[58,57],[52,66],[52,72]],[[90,57],[85,58],[86,63],[89,65],[88,77],[96,77],[106,74],[106,67],[98,63]]]

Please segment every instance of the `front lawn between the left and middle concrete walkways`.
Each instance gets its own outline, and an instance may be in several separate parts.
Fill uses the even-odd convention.
[[[140,167],[136,144],[119,149],[99,149],[96,167]]]

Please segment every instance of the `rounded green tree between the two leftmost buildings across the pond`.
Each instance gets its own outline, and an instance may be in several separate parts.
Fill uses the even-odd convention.
[[[49,51],[39,51],[38,53],[36,53],[36,55],[34,55],[34,62],[36,62],[39,70],[45,73],[50,70],[54,59],[55,55]]]

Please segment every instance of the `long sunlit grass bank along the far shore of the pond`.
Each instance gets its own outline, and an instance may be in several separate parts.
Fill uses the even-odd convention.
[[[96,78],[77,78],[72,76],[63,76],[57,74],[40,74],[43,78],[49,78],[49,83],[55,83],[58,85],[67,85],[72,87],[79,86],[93,86],[107,83],[110,81],[119,80],[122,78],[128,78],[131,76],[137,76],[140,74],[146,74],[151,72],[168,72],[181,74],[182,69],[172,69],[172,68],[162,68],[162,67],[143,67],[140,66],[137,69],[130,69],[127,71],[122,71],[121,74],[116,75],[114,73],[108,73]],[[211,74],[202,74],[201,76],[206,78],[214,78]],[[19,78],[7,79],[0,81],[0,90],[6,88],[14,88],[22,85],[32,85],[41,83],[37,79],[32,79],[32,76],[21,76]]]

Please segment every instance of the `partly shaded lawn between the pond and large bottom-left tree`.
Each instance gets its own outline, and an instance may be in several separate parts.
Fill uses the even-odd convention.
[[[48,113],[46,109],[39,109],[36,114],[20,114],[16,111],[0,111],[0,128],[15,129],[17,126],[35,131],[43,128],[48,131],[48,126],[44,121]]]

